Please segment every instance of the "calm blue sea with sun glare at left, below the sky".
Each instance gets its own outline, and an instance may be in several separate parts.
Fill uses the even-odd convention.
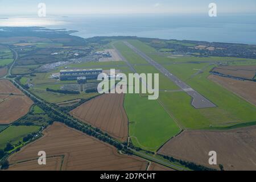
[[[0,26],[43,26],[77,30],[73,35],[139,36],[256,44],[256,14],[204,15],[82,15],[46,18],[0,16]],[[1,33],[1,32],[0,32]]]

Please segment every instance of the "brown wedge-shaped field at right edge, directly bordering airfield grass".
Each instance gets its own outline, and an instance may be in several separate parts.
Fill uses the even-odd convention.
[[[210,75],[209,79],[217,84],[220,84],[221,86],[224,86],[226,89],[256,106],[256,82],[235,80],[216,75]]]

